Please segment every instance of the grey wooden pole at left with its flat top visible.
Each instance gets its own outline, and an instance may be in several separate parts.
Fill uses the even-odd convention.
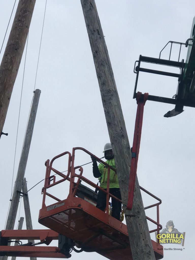
[[[33,98],[32,107],[30,110],[30,116],[28,120],[27,131],[25,133],[24,144],[22,147],[22,154],[18,166],[18,172],[17,172],[16,182],[14,185],[14,191],[13,191],[10,210],[8,214],[8,220],[5,227],[5,229],[9,229],[9,230],[14,229],[40,94],[41,94],[41,90],[36,89]],[[5,260],[7,259],[7,256],[3,256],[3,258],[0,257],[0,259]]]

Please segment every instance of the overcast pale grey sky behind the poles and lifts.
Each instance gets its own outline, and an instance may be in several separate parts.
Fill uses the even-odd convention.
[[[0,45],[14,2],[14,0],[0,0]],[[16,6],[17,3],[18,0]],[[140,54],[158,57],[160,50],[170,40],[185,42],[190,37],[195,4],[193,0],[185,2],[96,0],[96,6],[112,63],[129,143],[132,144],[137,107],[136,101],[132,99],[136,76],[133,73],[134,62],[139,59]],[[37,0],[29,30],[14,181],[35,86],[44,8],[45,0]],[[0,59],[3,56],[13,17]],[[187,48],[182,47],[180,59],[186,58],[186,52]],[[2,136],[0,140],[0,230],[5,226],[13,186],[12,174],[24,57],[25,55],[22,57],[3,128],[3,132],[8,132],[8,136]],[[168,59],[167,50],[162,54],[162,58]],[[172,60],[177,58],[178,46],[173,47],[171,56]],[[166,69],[171,71],[171,68]],[[179,73],[179,69],[176,71]],[[28,189],[44,179],[46,170],[44,162],[47,159],[52,159],[64,151],[72,153],[72,148],[77,146],[102,157],[103,147],[109,142],[93,56],[79,0],[47,0],[36,88],[41,90],[41,96],[25,173]],[[176,94],[177,79],[140,73],[137,90],[171,98]],[[185,111],[180,115],[164,118],[163,115],[173,108],[174,105],[146,102],[137,171],[140,186],[162,200],[160,223],[163,228],[168,220],[173,220],[179,232],[186,232],[185,250],[164,251],[166,260],[190,259],[194,246],[195,110],[185,107]],[[90,157],[78,152],[75,160],[81,165],[89,162]],[[55,167],[65,171],[67,161],[59,160]],[[84,176],[96,181],[93,178],[91,164],[84,168]],[[38,223],[43,185],[44,182],[29,192],[34,229],[44,228]],[[64,183],[64,186],[55,190],[59,198],[66,198],[67,185]],[[145,195],[143,201],[145,206],[153,203],[153,200]],[[156,218],[153,210],[148,210],[146,214],[150,218]],[[21,216],[24,216],[23,200],[17,220]],[[23,228],[25,229],[25,223]],[[149,224],[149,228],[152,229],[154,226]],[[155,239],[153,234],[151,238]],[[181,248],[180,245],[164,247]],[[81,253],[78,256],[75,252],[72,253],[71,259],[78,257],[105,259],[96,253]]]

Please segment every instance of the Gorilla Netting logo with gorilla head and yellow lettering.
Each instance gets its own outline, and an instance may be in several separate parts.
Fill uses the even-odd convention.
[[[180,233],[174,228],[173,221],[169,220],[166,224],[166,228],[159,234],[155,232],[156,242],[159,244],[178,244],[184,246],[185,232]]]

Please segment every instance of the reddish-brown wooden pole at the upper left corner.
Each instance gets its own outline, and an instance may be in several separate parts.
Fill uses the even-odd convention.
[[[0,66],[0,134],[18,73],[36,0],[19,0]]]

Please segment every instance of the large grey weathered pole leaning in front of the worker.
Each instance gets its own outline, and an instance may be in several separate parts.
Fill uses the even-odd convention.
[[[81,0],[81,5],[92,49],[110,141],[114,152],[123,206],[126,215],[132,216],[126,217],[132,257],[133,260],[154,260],[154,251],[137,178],[133,208],[131,211],[126,211],[131,148],[95,1]]]

